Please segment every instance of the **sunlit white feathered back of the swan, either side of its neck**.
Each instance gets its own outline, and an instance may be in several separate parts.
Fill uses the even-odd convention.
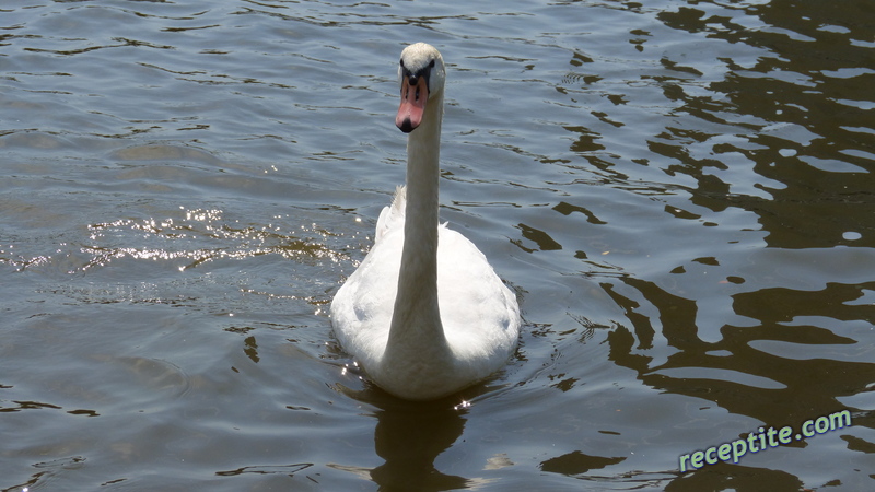
[[[331,302],[338,341],[372,377],[383,372],[398,290],[405,198],[398,187],[393,204],[380,214],[374,247]],[[438,302],[454,368],[442,371],[441,380],[417,386],[462,389],[506,363],[520,332],[516,297],[474,243],[445,225],[439,229]]]

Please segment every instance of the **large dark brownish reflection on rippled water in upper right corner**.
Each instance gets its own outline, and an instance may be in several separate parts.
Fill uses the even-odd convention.
[[[868,86],[875,71],[864,61],[872,39],[858,22],[866,9],[863,2],[852,2],[847,9],[822,2],[769,2],[746,9],[745,21],[757,20],[757,28],[709,17],[696,9],[660,14],[668,26],[707,32],[709,37],[744,43],[762,52],[748,62],[722,60],[732,71],[709,84],[707,102],[678,94],[685,113],[700,113],[704,106],[701,116],[721,124],[743,115],[743,127],[756,133],[735,129],[736,136],[745,134],[738,141],[696,132],[692,140],[681,140],[682,148],[667,145],[657,152],[693,169],[731,171],[728,165],[738,157],[752,163],[754,172],[767,179],[755,186],[768,195],[752,200],[742,196],[731,206],[759,216],[771,247],[851,245],[843,239],[847,232],[860,234],[853,246],[873,245],[871,223],[861,216],[871,203],[867,190],[875,159],[867,138],[873,133]],[[788,11],[793,14],[782,14]],[[697,160],[688,154],[690,144],[702,148],[700,143],[709,140],[718,159]],[[693,198],[703,196],[697,204],[712,209],[713,196],[736,185],[723,183],[720,173],[691,175],[699,181]]]

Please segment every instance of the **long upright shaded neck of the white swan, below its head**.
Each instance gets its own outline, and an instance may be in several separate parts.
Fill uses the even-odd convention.
[[[407,208],[386,358],[434,363],[450,349],[438,307],[438,225],[443,93],[431,97],[407,140]],[[398,361],[400,362],[400,361]],[[408,366],[412,361],[405,361]],[[418,364],[413,364],[418,365]],[[404,365],[399,365],[404,367]]]

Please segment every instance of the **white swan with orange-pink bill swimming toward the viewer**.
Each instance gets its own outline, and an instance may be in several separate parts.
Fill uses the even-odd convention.
[[[439,222],[445,78],[434,47],[401,52],[395,124],[408,133],[407,185],[330,307],[340,347],[374,384],[409,400],[452,395],[503,367],[521,324],[516,297],[486,256]]]

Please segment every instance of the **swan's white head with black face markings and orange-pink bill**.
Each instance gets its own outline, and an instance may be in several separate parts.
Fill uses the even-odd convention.
[[[433,46],[417,43],[401,51],[398,66],[401,106],[395,117],[395,125],[401,131],[409,133],[422,122],[425,103],[444,90],[445,79],[444,59]]]

